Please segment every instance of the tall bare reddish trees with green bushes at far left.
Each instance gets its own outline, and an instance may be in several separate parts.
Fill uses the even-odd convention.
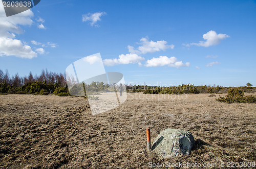
[[[63,74],[42,70],[39,76],[20,77],[18,73],[10,77],[8,70],[0,69],[0,93],[69,95],[67,80]]]

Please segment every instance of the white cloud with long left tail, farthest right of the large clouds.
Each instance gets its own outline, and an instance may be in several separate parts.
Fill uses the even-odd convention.
[[[221,42],[222,39],[228,38],[230,36],[226,34],[217,34],[215,31],[209,31],[206,34],[203,34],[203,38],[205,41],[199,41],[199,43],[189,43],[189,44],[183,44],[187,47],[191,45],[197,45],[197,46],[204,46],[209,47],[212,45],[217,45]]]

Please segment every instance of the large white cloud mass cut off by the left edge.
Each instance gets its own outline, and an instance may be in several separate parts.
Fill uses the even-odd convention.
[[[29,45],[15,39],[15,34],[23,33],[19,27],[32,24],[33,12],[31,10],[6,17],[4,7],[0,6],[0,56],[16,56],[21,58],[37,57]]]

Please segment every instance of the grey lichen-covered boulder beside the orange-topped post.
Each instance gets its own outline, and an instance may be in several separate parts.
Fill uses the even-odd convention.
[[[180,129],[165,129],[154,140],[152,150],[160,157],[189,155],[195,144],[193,135]]]

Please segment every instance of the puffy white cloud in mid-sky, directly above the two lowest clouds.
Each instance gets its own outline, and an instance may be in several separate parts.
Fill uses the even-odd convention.
[[[167,42],[164,40],[159,40],[154,42],[153,40],[148,41],[148,38],[141,38],[140,39],[142,46],[138,47],[138,51],[142,54],[146,53],[153,53],[158,51],[165,51],[166,49],[174,49],[174,45],[167,45]],[[130,51],[133,51],[131,47],[129,48]]]

